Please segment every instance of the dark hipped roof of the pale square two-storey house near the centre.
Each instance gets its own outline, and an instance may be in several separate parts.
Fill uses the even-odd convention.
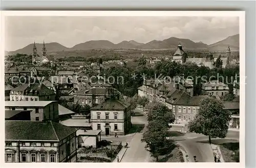
[[[124,103],[120,100],[108,99],[108,100],[105,100],[105,102],[95,107],[92,107],[91,110],[124,110],[129,106],[130,104]]]

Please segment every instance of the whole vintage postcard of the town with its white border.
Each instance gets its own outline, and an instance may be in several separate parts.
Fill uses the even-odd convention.
[[[1,19],[5,166],[244,165],[244,12]]]

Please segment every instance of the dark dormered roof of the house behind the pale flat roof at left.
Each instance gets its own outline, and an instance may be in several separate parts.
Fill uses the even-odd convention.
[[[35,90],[37,91],[37,95],[53,95],[55,94],[54,91],[52,91],[51,89],[49,89],[47,86],[45,86],[44,84],[39,84],[39,83],[25,83],[23,85],[19,85],[17,87],[15,87],[14,89],[12,89],[12,91],[28,91],[30,92],[31,90]]]

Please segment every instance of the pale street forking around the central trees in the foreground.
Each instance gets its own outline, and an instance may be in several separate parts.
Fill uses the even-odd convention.
[[[135,114],[132,117],[132,124],[147,124],[147,119],[141,110],[135,109]],[[145,130],[144,127],[144,130]],[[170,131],[174,133],[170,138],[174,139],[178,145],[187,153],[190,161],[194,161],[193,156],[197,156],[198,162],[214,162],[214,155],[211,147],[208,143],[208,136],[196,133],[180,133],[182,126],[173,125]],[[119,136],[103,136],[102,139],[127,142],[129,148],[127,148],[125,154],[121,158],[120,162],[150,162],[151,154],[145,150],[145,143],[141,142],[143,131]],[[212,138],[212,142],[228,142],[239,140],[239,131],[228,131],[226,138]]]

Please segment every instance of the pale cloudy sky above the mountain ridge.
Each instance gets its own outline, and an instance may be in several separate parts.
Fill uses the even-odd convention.
[[[72,47],[90,40],[150,42],[169,37],[206,44],[239,34],[238,17],[184,16],[7,16],[5,51],[36,43]]]

